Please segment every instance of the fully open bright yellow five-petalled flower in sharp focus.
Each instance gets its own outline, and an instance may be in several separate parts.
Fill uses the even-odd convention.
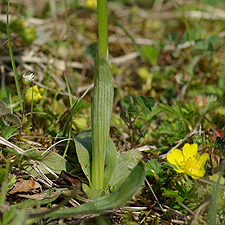
[[[186,173],[193,179],[198,179],[205,175],[204,165],[209,154],[203,153],[200,156],[197,150],[197,144],[185,144],[183,152],[175,148],[167,155],[167,160],[176,167],[174,170],[178,173]]]

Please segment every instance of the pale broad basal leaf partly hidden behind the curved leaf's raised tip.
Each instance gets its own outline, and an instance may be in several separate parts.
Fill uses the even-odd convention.
[[[141,152],[136,149],[124,152],[119,156],[114,177],[110,182],[112,190],[116,190],[125,181],[142,157]]]

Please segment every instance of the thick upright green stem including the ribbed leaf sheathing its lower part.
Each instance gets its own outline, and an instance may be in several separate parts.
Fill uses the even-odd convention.
[[[99,51],[95,58],[94,92],[91,103],[91,188],[103,190],[105,153],[113,107],[112,72],[108,64],[108,19],[106,0],[97,0]]]

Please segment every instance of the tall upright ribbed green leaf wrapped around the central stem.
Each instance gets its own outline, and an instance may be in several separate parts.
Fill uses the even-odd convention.
[[[111,68],[104,55],[97,51],[94,93],[91,104],[91,183],[94,189],[103,189],[105,154],[109,140],[113,98],[114,88]]]

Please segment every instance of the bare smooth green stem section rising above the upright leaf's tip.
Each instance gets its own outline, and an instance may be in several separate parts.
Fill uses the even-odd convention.
[[[108,18],[106,0],[97,0],[98,8],[98,46],[108,59]]]

